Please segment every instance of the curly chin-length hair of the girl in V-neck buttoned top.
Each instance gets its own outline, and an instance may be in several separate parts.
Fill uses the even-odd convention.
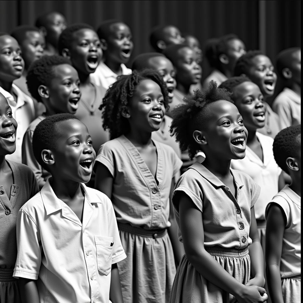
[[[102,126],[105,130],[109,129],[111,139],[130,131],[128,119],[122,116],[122,112],[127,109],[128,102],[134,95],[138,84],[146,79],[150,79],[160,86],[165,109],[168,109],[167,86],[158,72],[151,69],[140,72],[135,70],[130,75],[119,76],[117,81],[108,88],[103,103],[99,107],[100,110],[104,110]]]

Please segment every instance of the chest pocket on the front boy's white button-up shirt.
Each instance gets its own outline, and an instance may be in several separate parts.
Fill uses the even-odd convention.
[[[113,238],[94,236],[97,249],[98,271],[108,275],[112,269]]]

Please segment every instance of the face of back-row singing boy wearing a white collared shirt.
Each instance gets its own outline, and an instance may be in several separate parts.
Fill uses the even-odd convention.
[[[110,26],[110,32],[106,38],[106,46],[103,48],[105,62],[127,63],[132,54],[134,44],[130,28],[121,22]]]

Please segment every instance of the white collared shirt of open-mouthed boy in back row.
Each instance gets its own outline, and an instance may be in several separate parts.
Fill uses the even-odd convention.
[[[123,63],[121,64],[122,75],[130,75],[132,70],[127,68]],[[110,85],[117,81],[118,75],[115,74],[104,62],[100,62],[95,72],[90,74],[91,81],[95,85],[101,85],[108,89]]]

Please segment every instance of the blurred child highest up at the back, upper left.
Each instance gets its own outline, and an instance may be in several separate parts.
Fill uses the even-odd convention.
[[[45,37],[45,55],[58,54],[58,39],[66,28],[65,17],[58,12],[49,12],[38,17],[35,26],[39,28]]]

